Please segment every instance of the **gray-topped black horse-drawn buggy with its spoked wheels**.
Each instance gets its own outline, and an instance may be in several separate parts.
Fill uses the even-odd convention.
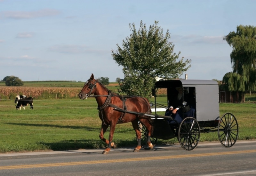
[[[217,81],[212,80],[164,80],[155,83],[156,92],[158,88],[166,89],[168,107],[172,105],[174,97],[178,94],[176,87],[181,86],[184,93],[194,96],[195,90],[196,107],[193,117],[186,117],[181,123],[172,116],[157,115],[157,107],[165,107],[156,102],[153,104],[155,115],[148,115],[153,121],[154,131],[151,135],[152,144],[156,144],[157,139],[168,140],[177,137],[184,150],[196,148],[200,133],[218,132],[220,143],[224,147],[231,147],[236,143],[238,137],[238,123],[236,117],[231,113],[219,116],[219,87]],[[153,93],[154,94],[154,93]],[[183,102],[187,106],[186,102]],[[147,115],[147,114],[145,114]],[[170,123],[172,122],[172,123]],[[139,122],[141,130],[141,146],[148,149],[148,131]]]

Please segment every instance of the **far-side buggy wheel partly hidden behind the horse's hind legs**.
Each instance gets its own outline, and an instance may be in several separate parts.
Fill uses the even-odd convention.
[[[148,142],[148,130],[142,123],[140,123],[140,121],[138,122],[138,126],[140,129],[141,147],[145,150],[149,150],[150,148],[148,147],[148,143],[147,143]],[[137,136],[136,136],[136,139],[138,141]],[[150,137],[150,139],[151,139],[151,143],[153,144],[153,146],[155,146],[157,138]]]

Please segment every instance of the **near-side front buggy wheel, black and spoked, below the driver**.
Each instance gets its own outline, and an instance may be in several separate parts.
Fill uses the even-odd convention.
[[[193,117],[186,117],[181,123],[178,131],[178,139],[184,150],[196,148],[200,138],[200,127]]]

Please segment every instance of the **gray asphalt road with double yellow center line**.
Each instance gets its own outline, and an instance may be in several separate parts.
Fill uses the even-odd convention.
[[[1,176],[252,176],[256,174],[256,141],[237,141],[231,148],[199,143],[193,151],[180,145],[77,151],[0,154]]]

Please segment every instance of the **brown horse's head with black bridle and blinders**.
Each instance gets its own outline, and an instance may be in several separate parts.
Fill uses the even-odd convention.
[[[85,82],[81,92],[78,94],[79,98],[84,100],[86,97],[93,94],[96,90],[96,83],[97,81],[94,79],[94,76],[92,74],[90,79]]]

